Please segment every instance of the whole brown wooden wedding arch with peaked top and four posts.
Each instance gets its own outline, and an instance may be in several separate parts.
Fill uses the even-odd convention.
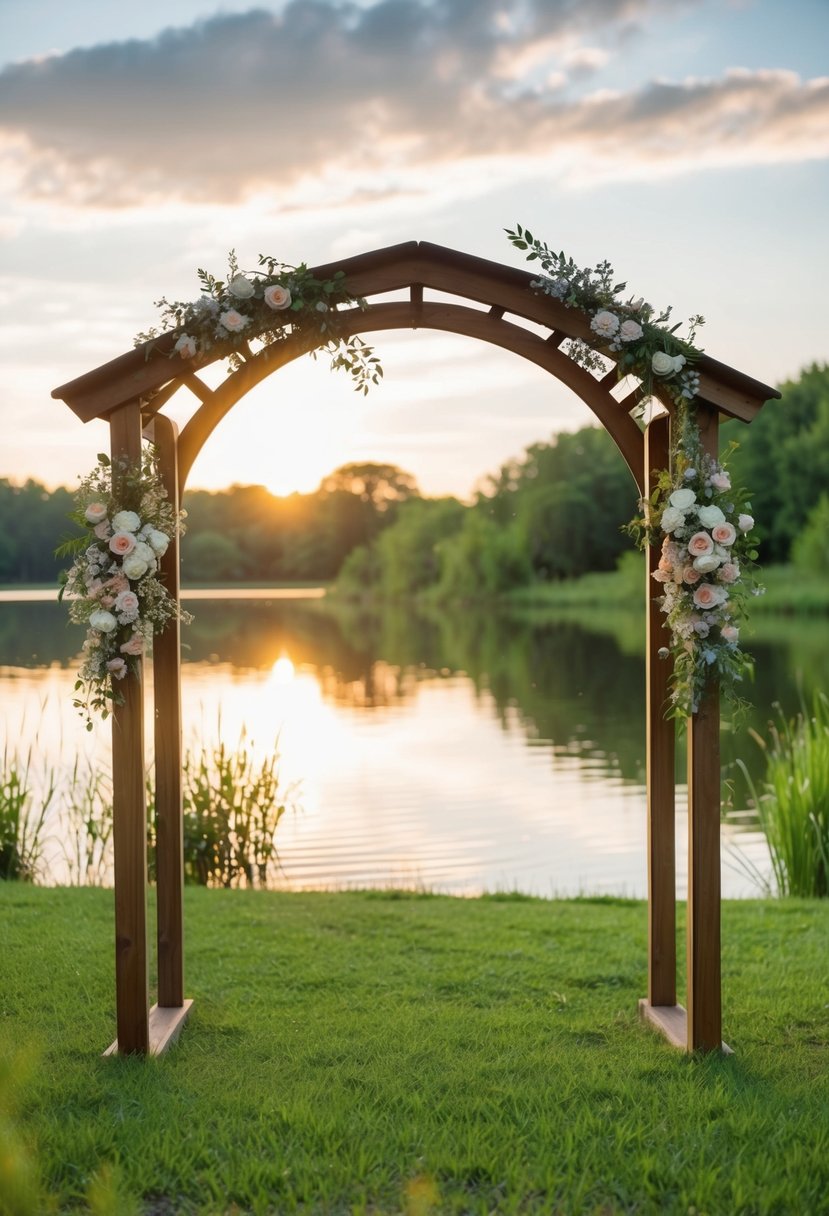
[[[511,350],[566,384],[613,437],[641,492],[670,452],[670,401],[644,427],[632,412],[641,402],[637,382],[619,395],[616,367],[594,376],[568,354],[568,339],[591,343],[583,314],[538,294],[534,275],[442,246],[410,241],[338,264],[314,268],[318,278],[345,272],[350,293],[365,309],[339,313],[342,332],[430,328],[458,333]],[[393,297],[393,298],[390,298]],[[529,322],[529,325],[528,325]],[[113,457],[136,461],[142,437],[156,443],[168,494],[177,507],[202,446],[232,406],[266,376],[314,349],[308,336],[289,336],[244,362],[216,389],[197,375],[220,356],[190,360],[174,355],[174,337],[130,350],[56,388],[83,421],[106,418]],[[704,355],[698,416],[703,443],[717,452],[720,416],[750,422],[776,389]],[[163,412],[179,390],[193,394],[196,412],[179,433]],[[615,390],[615,392],[614,392]],[[689,1051],[722,1043],[720,970],[720,709],[716,689],[688,724],[688,924],[687,1012],[676,1000],[675,730],[664,709],[669,664],[645,562],[647,789],[648,789],[648,997],[643,1017]],[[179,595],[179,551],[162,562],[170,592]],[[163,1051],[181,1029],[192,1002],[184,996],[181,679],[177,624],[154,641],[154,751],[157,806],[158,1003],[148,1001],[147,857],[145,805],[143,688],[130,680],[113,714],[113,839],[115,884],[115,1003],[118,1037],[111,1051]]]

